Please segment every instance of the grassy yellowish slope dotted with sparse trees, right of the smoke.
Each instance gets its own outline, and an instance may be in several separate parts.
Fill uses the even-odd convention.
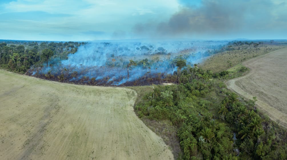
[[[242,63],[248,59],[256,56],[272,52],[277,49],[284,48],[286,46],[268,46],[267,50],[265,47],[259,47],[260,50],[252,50],[243,47],[241,49],[233,51],[224,51],[213,56],[206,57],[204,62],[200,64],[202,69],[211,70],[214,72],[225,71],[239,63]],[[272,49],[271,49],[272,48]]]

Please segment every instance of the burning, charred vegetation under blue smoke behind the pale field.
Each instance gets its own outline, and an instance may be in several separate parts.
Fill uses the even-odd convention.
[[[220,51],[220,42],[94,42],[60,58],[53,55],[26,73],[35,77],[74,84],[133,86],[178,83],[183,68]],[[47,56],[43,56],[43,60]]]

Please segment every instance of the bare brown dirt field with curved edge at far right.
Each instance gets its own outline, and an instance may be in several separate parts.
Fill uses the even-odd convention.
[[[243,63],[251,69],[243,77],[227,82],[229,89],[252,99],[270,118],[287,128],[287,48],[258,56]]]

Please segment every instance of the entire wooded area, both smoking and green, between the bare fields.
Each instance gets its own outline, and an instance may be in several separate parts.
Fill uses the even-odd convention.
[[[208,44],[205,48],[196,47],[195,43],[180,49],[137,44],[131,50],[117,46],[117,50],[103,54],[113,44],[7,40],[0,43],[0,66],[16,73],[74,84],[153,84],[151,92],[139,97],[135,112],[146,124],[162,123],[162,132],[155,132],[167,137],[165,143],[179,160],[287,159],[286,130],[255,107],[256,97],[244,100],[223,82],[248,69],[241,67],[236,73],[213,72],[196,64],[202,57],[226,51],[233,54],[233,50],[243,47],[257,52],[263,43],[234,41]],[[89,52],[100,56],[90,56]],[[88,60],[73,59],[85,55]],[[106,57],[101,59],[102,55]],[[164,82],[174,85],[154,85]],[[149,127],[160,128],[152,125]]]

